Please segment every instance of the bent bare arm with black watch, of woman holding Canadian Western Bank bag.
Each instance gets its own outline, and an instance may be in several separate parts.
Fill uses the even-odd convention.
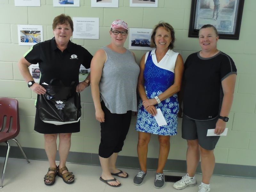
[[[33,77],[31,76],[28,67],[31,65],[24,57],[22,57],[19,62],[18,62],[18,68],[20,70],[20,74],[23,76],[25,79],[26,83],[29,81],[34,81]],[[37,93],[38,95],[44,95],[46,93],[46,90],[44,89],[43,86],[41,86],[38,83],[34,83],[30,89]]]

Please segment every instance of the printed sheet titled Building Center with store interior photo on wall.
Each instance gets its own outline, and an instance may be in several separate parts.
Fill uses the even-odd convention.
[[[18,25],[19,45],[35,45],[43,41],[42,25]]]

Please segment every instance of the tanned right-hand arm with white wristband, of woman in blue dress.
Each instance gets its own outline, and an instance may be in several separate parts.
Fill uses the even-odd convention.
[[[181,82],[182,82],[182,75],[184,71],[184,64],[181,55],[179,54],[175,63],[174,67],[174,83],[166,89],[163,93],[158,95],[160,101],[165,100],[171,97],[173,94],[180,91]],[[144,106],[156,105],[156,99],[148,99],[143,101]]]

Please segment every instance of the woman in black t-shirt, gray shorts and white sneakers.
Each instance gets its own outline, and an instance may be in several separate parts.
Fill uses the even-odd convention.
[[[188,56],[184,72],[182,138],[187,140],[187,174],[173,187],[196,185],[195,172],[201,157],[203,179],[199,192],[210,191],[215,165],[213,149],[220,136],[206,136],[208,129],[220,135],[226,128],[236,82],[234,61],[217,49],[216,28],[199,30],[201,51]]]

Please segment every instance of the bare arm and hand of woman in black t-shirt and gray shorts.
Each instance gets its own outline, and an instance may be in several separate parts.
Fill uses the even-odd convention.
[[[232,74],[228,77],[226,77],[222,82],[222,89],[223,89],[223,100],[222,105],[220,109],[220,116],[228,116],[232,102],[234,97],[234,90],[235,90],[235,84],[236,84],[236,74]],[[217,135],[220,135],[224,132],[226,128],[226,122],[222,119],[218,119],[215,127],[214,133]]]

